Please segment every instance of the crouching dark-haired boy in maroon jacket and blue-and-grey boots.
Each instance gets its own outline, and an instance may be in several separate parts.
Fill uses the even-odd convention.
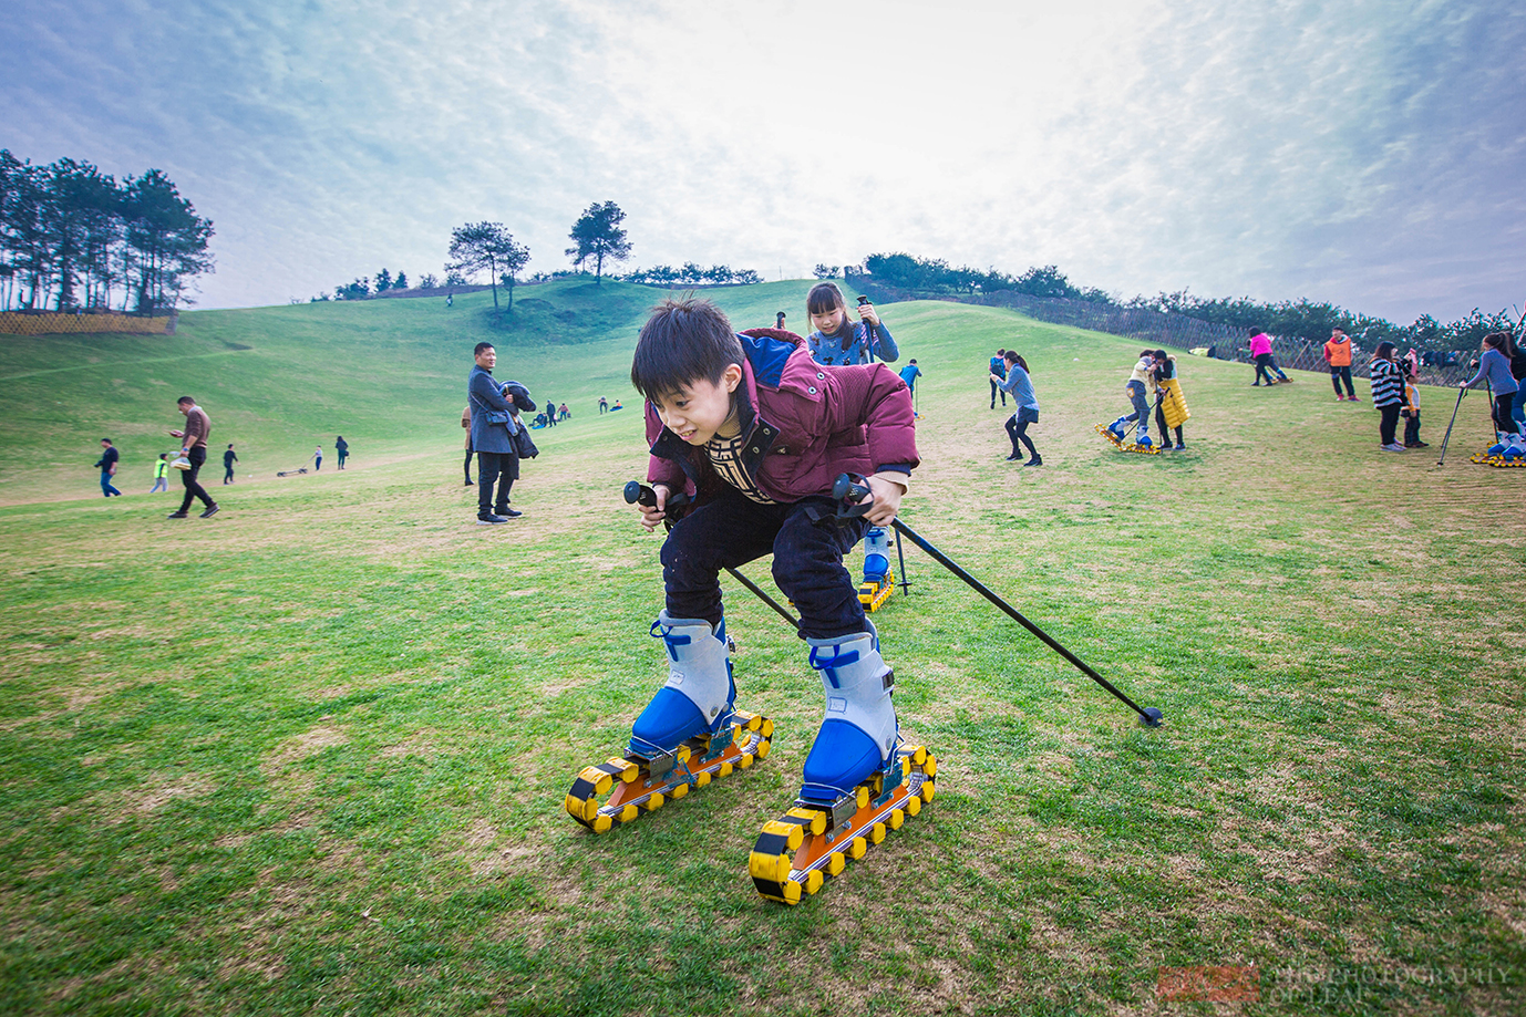
[[[827,698],[801,799],[838,800],[896,746],[894,677],[842,555],[870,525],[890,526],[919,465],[911,393],[885,364],[824,367],[792,332],[734,332],[708,300],[653,311],[630,380],[647,396],[658,496],[636,506],[641,525],[656,528],[671,496],[693,499],[662,544],[667,607],[652,627],[670,675],[632,727],[630,752],[661,756],[725,726],[736,685],[719,572],[772,553]],[[836,517],[842,473],[868,477],[867,514]]]

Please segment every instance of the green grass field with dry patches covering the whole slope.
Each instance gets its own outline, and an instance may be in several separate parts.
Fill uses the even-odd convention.
[[[806,282],[726,290],[739,326]],[[1248,1014],[1526,1006],[1526,471],[1483,398],[1389,454],[1328,381],[1181,357],[1183,453],[1129,456],[1128,340],[884,306],[922,380],[903,518],[1167,724],[1144,730],[914,547],[876,614],[938,794],[786,909],[746,875],[821,715],[723,579],[772,755],[594,837],[562,811],[661,683],[629,351],[655,293],[186,314],[0,343],[0,999],[24,1014],[1154,1014],[1254,967]],[[530,299],[542,303],[530,303]],[[528,305],[528,306],[526,306]],[[555,325],[551,325],[551,323]],[[461,479],[470,346],[566,401],[510,526]],[[1015,346],[1045,465],[1003,460]],[[146,460],[197,395],[240,483],[166,521]],[[624,398],[598,416],[600,395]],[[278,480],[343,433],[345,473]],[[104,500],[96,439],[124,447]],[[177,488],[172,488],[172,492]],[[766,563],[748,572],[768,582]],[[1169,971],[1167,971],[1169,974]]]

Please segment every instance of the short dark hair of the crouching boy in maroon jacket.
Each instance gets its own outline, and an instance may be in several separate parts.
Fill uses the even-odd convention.
[[[719,383],[746,358],[726,314],[699,297],[664,300],[641,326],[630,361],[630,384],[649,399],[696,381]]]

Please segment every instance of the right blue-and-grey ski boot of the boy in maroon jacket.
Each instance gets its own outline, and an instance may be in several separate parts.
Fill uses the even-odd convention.
[[[865,624],[867,619],[865,619]],[[821,671],[827,715],[806,756],[800,800],[832,805],[882,770],[896,749],[896,675],[879,656],[874,627],[836,639],[807,639]]]

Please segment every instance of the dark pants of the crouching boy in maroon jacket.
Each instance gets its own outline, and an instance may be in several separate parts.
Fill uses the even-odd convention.
[[[757,505],[728,488],[687,515],[662,544],[662,582],[673,618],[722,616],[720,570],[774,555],[774,582],[800,610],[800,634],[836,639],[868,631],[842,555],[864,538],[864,518],[839,520],[830,499]]]

